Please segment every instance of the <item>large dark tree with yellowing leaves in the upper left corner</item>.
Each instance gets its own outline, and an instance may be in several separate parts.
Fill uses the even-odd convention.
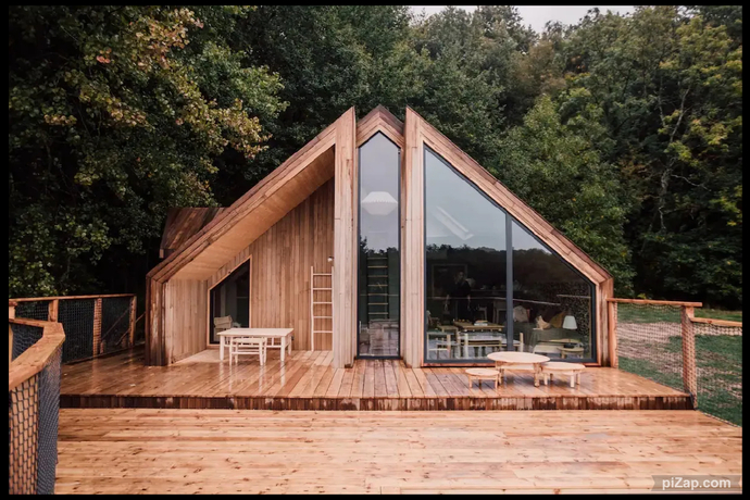
[[[142,254],[168,207],[213,204],[214,160],[247,164],[284,109],[189,9],[11,7],[9,293],[101,286],[96,264]],[[215,10],[212,22],[233,14]],[[152,245],[151,245],[152,248]]]

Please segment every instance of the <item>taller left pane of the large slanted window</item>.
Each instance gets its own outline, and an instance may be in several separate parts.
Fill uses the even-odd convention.
[[[432,150],[425,153],[427,361],[504,349],[505,213]]]

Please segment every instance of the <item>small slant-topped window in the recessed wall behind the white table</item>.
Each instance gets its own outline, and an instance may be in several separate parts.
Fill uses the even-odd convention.
[[[218,332],[250,327],[250,261],[211,289],[210,340],[218,343]]]

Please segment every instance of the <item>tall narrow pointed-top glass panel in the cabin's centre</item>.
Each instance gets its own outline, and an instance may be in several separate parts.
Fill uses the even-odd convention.
[[[358,355],[399,355],[400,150],[375,134],[359,151]]]

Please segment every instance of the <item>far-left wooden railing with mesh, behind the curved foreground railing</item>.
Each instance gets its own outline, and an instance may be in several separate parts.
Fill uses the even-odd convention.
[[[136,296],[133,293],[11,299],[9,310],[11,302],[16,317],[63,324],[67,334],[63,362],[97,358],[135,343]]]

